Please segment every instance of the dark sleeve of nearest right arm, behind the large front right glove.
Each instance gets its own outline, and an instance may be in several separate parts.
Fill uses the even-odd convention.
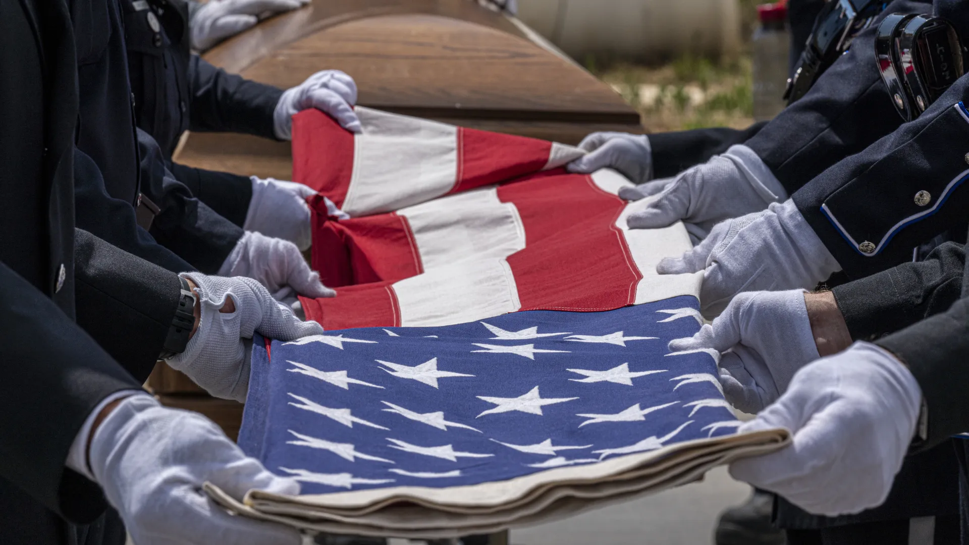
[[[924,447],[969,430],[969,299],[877,344],[905,362],[919,381],[928,409]]]

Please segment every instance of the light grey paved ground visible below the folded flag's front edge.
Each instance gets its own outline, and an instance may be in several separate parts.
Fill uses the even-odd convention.
[[[578,517],[512,531],[514,545],[705,545],[724,508],[742,503],[750,487],[718,467],[703,482]]]

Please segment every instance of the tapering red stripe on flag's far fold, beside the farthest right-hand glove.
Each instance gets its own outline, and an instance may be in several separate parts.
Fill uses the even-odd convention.
[[[542,170],[551,143],[534,138],[457,128],[457,179],[450,193],[508,181]]]

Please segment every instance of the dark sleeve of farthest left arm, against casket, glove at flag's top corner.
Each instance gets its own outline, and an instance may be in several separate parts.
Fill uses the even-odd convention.
[[[189,62],[189,130],[246,133],[276,140],[272,112],[281,89],[215,68],[199,55]]]

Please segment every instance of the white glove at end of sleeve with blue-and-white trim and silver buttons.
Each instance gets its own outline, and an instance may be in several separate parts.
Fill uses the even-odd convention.
[[[814,289],[840,270],[790,199],[718,223],[682,257],[665,258],[656,266],[660,274],[703,271],[700,304],[708,317],[741,291]]]

